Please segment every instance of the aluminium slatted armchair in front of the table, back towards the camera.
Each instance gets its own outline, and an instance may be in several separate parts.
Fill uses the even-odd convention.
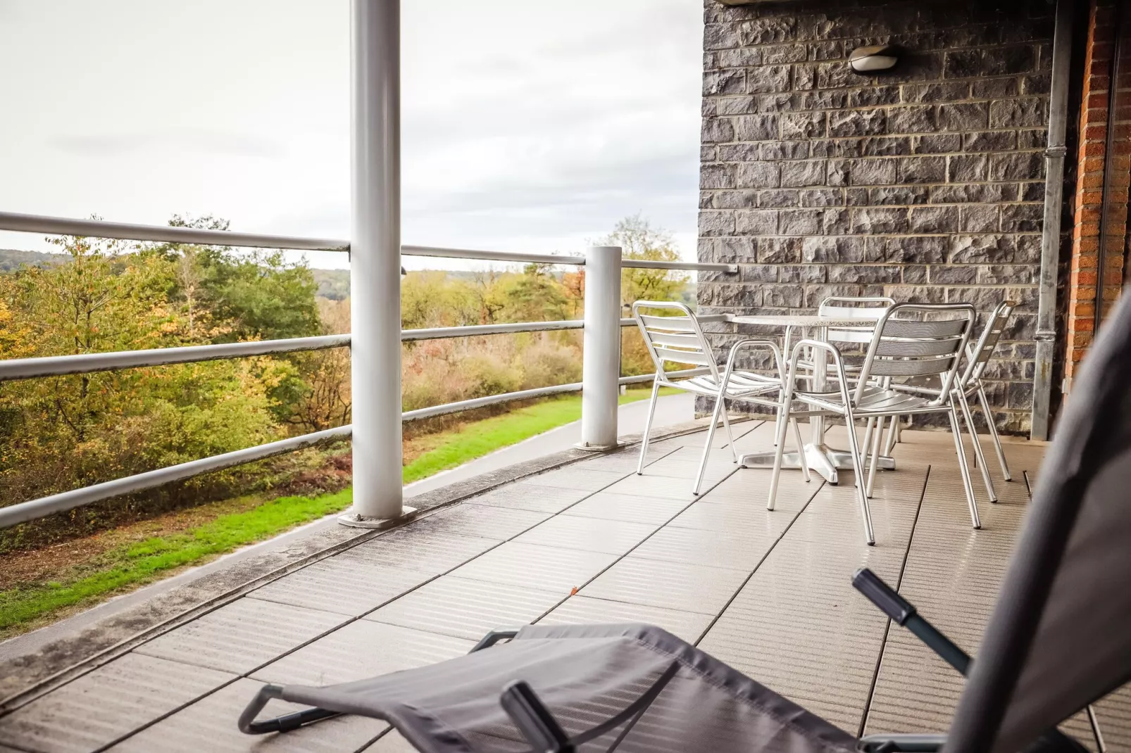
[[[872,513],[869,508],[871,484],[880,456],[880,436],[884,418],[898,421],[901,416],[946,414],[955,434],[955,450],[958,467],[969,503],[974,528],[981,528],[974,487],[970,483],[966,453],[962,451],[958,414],[952,392],[955,379],[974,322],[974,306],[962,304],[914,304],[897,303],[879,319],[873,330],[867,354],[861,364],[855,386],[848,379],[835,380],[832,389],[824,391],[798,390],[797,364],[805,349],[828,354],[834,364],[834,373],[846,374],[844,357],[836,346],[818,340],[801,340],[793,347],[789,371],[782,391],[778,410],[778,447],[774,457],[774,474],[770,477],[767,508],[772,510],[777,499],[778,478],[782,475],[785,421],[795,415],[823,415],[843,418],[848,429],[848,447],[856,476],[861,517],[864,522],[864,538],[869,545],[875,544],[872,530]],[[936,376],[940,381],[939,395],[920,396],[891,388],[891,379],[899,376]],[[873,381],[878,380],[878,381]],[[808,410],[793,410],[793,403],[808,406]],[[856,438],[855,421],[864,418],[867,427],[863,447],[870,451],[870,470],[865,476],[861,443]]]

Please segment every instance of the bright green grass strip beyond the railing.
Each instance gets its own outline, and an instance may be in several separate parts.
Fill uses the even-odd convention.
[[[676,390],[665,389],[667,395]],[[630,390],[621,404],[647,399],[650,390]],[[577,395],[552,398],[510,413],[465,424],[433,438],[433,448],[405,466],[405,483],[509,447],[581,417]],[[103,598],[156,580],[164,572],[232,552],[290,528],[340,512],[353,502],[352,490],[317,497],[286,496],[241,512],[223,514],[184,533],[156,536],[111,548],[76,565],[62,580],[0,591],[0,639],[36,628],[63,609],[90,606]]]

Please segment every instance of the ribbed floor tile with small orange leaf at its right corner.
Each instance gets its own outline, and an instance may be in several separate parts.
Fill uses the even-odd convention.
[[[561,599],[560,591],[443,575],[365,618],[477,641],[529,624]]]

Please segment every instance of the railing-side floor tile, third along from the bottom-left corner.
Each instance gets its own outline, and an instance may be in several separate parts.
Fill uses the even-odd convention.
[[[248,594],[248,598],[357,616],[420,586],[431,575],[420,570],[330,557],[284,575]]]

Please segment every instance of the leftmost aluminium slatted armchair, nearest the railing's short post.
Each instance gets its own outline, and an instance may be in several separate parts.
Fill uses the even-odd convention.
[[[665,312],[670,315],[657,315],[658,312]],[[726,429],[731,455],[735,462],[739,461],[739,453],[734,448],[734,434],[731,432],[731,421],[726,415],[726,401],[743,400],[767,408],[777,408],[777,393],[782,390],[782,352],[770,340],[742,339],[731,347],[725,372],[720,373],[714,350],[703,335],[699,319],[687,305],[672,301],[637,301],[632,304],[632,317],[640,328],[645,346],[648,348],[648,354],[656,366],[656,376],[653,380],[651,387],[651,399],[648,403],[648,417],[645,422],[644,440],[640,442],[640,462],[637,466],[637,475],[644,474],[645,459],[648,455],[649,435],[651,433],[651,419],[656,412],[656,399],[659,396],[659,388],[674,387],[675,389],[685,390],[694,395],[714,398],[715,409],[711,415],[710,426],[707,430],[707,441],[703,443],[703,453],[692,488],[694,494],[699,494],[703,474],[707,469],[707,459],[715,439],[715,427],[718,425],[719,418],[722,418],[723,426]],[[763,374],[736,367],[739,354],[742,350],[751,348],[769,352],[772,356],[774,374]],[[672,373],[667,371],[667,364],[698,366],[700,373],[687,378],[673,378]],[[801,431],[797,427],[796,421],[793,423],[793,429],[794,439],[800,448]],[[809,469],[804,467],[803,469],[808,481]]]

